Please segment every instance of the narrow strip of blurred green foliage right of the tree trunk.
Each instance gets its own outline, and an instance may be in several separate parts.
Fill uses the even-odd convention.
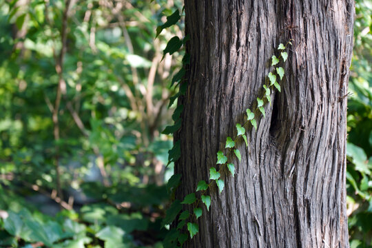
[[[355,1],[348,102],[347,214],[351,248],[372,247],[372,1]]]

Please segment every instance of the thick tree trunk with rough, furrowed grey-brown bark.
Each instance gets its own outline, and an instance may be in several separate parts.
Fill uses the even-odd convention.
[[[262,94],[279,43],[294,39],[282,93],[239,143],[236,176],[211,189],[185,247],[349,247],[347,85],[352,0],[185,0],[191,56],[181,130],[180,199],[209,178],[216,152]],[[197,194],[198,195],[198,194]]]

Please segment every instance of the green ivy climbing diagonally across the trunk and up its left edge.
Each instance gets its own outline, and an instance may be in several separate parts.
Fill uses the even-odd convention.
[[[163,25],[158,26],[156,29],[156,37],[164,28],[168,28],[171,25],[176,24],[180,20],[180,12],[176,10],[173,14],[167,17],[167,21],[163,23]],[[184,37],[180,39],[179,37],[172,37],[167,43],[167,46],[164,50],[164,55],[169,53],[173,54],[180,50],[180,48],[185,45],[188,37]],[[203,203],[209,211],[209,207],[211,206],[211,196],[210,196],[210,189],[213,184],[216,184],[219,193],[223,192],[225,188],[225,181],[221,179],[221,174],[225,171],[230,173],[231,176],[234,177],[235,175],[235,165],[232,162],[232,158],[236,156],[238,161],[241,161],[241,154],[240,150],[237,147],[238,139],[242,138],[245,141],[245,145],[248,147],[248,140],[246,132],[251,127],[254,127],[257,130],[257,121],[260,114],[265,118],[265,104],[269,103],[271,105],[271,92],[274,90],[278,90],[281,92],[280,88],[280,81],[282,81],[283,77],[285,76],[285,70],[280,65],[280,61],[283,63],[287,61],[288,54],[286,52],[288,45],[291,45],[292,40],[289,40],[286,44],[280,43],[278,45],[278,56],[275,54],[271,56],[271,66],[273,66],[273,70],[269,72],[267,75],[267,82],[262,85],[263,87],[263,96],[258,97],[256,102],[254,103],[254,107],[252,110],[247,108],[246,114],[247,118],[245,123],[236,123],[236,136],[232,138],[228,136],[225,142],[225,150],[217,152],[217,161],[216,165],[209,168],[209,180],[208,183],[206,180],[200,180],[196,185],[196,192],[200,192],[200,198],[196,196],[196,192],[192,192],[183,198],[183,201],[174,200],[172,205],[170,205],[169,209],[167,209],[166,216],[163,220],[163,225],[170,225],[174,220],[176,220],[178,216],[178,225],[176,228],[172,228],[169,230],[169,233],[165,237],[164,240],[164,247],[182,247],[183,243],[187,241],[187,239],[193,238],[196,234],[198,234],[199,226],[196,223],[196,220],[203,215],[203,209],[201,208],[200,204]],[[178,93],[176,93],[169,102],[169,107],[173,105],[174,101],[178,98],[178,96],[185,94],[187,88],[187,82],[183,80],[186,72],[186,66],[189,64],[189,55],[185,54],[183,58],[183,67],[180,69],[178,73],[176,73],[172,79],[171,87],[176,85],[175,87],[179,87]],[[172,115],[174,125],[168,126],[163,131],[163,134],[173,134],[177,130],[180,129],[182,119],[180,118],[180,114],[183,111],[183,105],[178,104],[176,110],[174,110],[174,114]],[[247,129],[247,130],[246,130]],[[176,162],[178,158],[180,158],[180,141],[176,141],[174,143],[174,147],[169,150],[169,158],[168,158],[168,165],[169,163]],[[219,167],[219,169],[217,169]],[[226,170],[227,169],[227,170]],[[169,194],[171,194],[172,198],[174,198],[174,192],[176,187],[180,184],[180,174],[174,174],[172,178],[169,179],[167,183],[167,190]],[[182,205],[192,205],[192,213],[188,210],[182,211]],[[182,232],[184,227],[187,228],[189,234],[185,234]]]

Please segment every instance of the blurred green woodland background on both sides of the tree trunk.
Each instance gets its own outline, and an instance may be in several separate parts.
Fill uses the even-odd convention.
[[[67,12],[65,3],[0,0],[0,247],[162,247],[172,138],[161,131],[182,54],[161,59],[183,23],[154,37],[181,3],[70,1]],[[356,1],[355,12],[353,248],[372,247],[372,1]]]

